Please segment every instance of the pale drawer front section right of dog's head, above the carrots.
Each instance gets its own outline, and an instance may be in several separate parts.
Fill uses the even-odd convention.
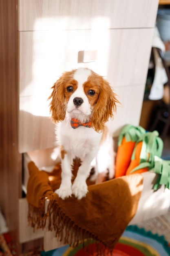
[[[144,89],[145,85],[115,88],[115,93],[119,95],[122,106],[117,107],[117,115],[115,115],[114,120],[108,122],[113,137],[119,136],[121,128],[125,124],[139,125]]]

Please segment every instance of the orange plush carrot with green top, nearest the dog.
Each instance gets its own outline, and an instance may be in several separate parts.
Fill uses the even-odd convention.
[[[145,134],[146,130],[141,126],[127,124],[120,132],[118,138],[117,158],[115,163],[115,178],[126,174],[130,164],[136,141]]]

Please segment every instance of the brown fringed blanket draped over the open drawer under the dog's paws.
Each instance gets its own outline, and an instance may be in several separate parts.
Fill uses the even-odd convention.
[[[76,169],[75,165],[75,172]],[[88,184],[88,193],[81,200],[74,196],[62,200],[53,193],[61,182],[60,164],[47,173],[30,162],[29,173],[29,223],[34,228],[44,228],[49,218],[49,230],[54,229],[56,236],[71,245],[84,238],[93,238],[113,249],[135,215],[143,189],[141,174],[127,175],[100,184]],[[46,199],[49,206],[45,213]]]

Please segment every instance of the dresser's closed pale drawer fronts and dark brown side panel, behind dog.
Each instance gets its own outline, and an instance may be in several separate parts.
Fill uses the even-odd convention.
[[[51,86],[62,72],[89,67],[110,81],[122,103],[108,124],[113,137],[124,124],[139,125],[158,4],[0,1],[0,206],[18,250],[41,236],[19,232],[26,219],[22,166],[23,153],[54,146]]]

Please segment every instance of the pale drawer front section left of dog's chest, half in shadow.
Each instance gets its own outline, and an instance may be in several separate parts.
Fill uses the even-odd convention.
[[[48,103],[43,99],[41,96],[20,97],[20,153],[55,146],[55,124],[49,118]]]

